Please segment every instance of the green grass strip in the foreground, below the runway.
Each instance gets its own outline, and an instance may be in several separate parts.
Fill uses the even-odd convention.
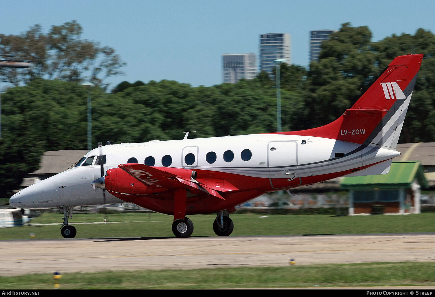
[[[69,273],[61,289],[201,289],[434,286],[435,263],[323,264]],[[51,289],[52,274],[0,277],[1,289]],[[394,287],[392,287],[394,289]]]

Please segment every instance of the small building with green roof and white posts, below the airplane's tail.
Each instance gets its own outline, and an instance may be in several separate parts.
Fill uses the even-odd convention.
[[[349,190],[349,215],[419,214],[422,187],[428,188],[428,182],[419,161],[392,162],[387,174],[341,181],[341,188]]]

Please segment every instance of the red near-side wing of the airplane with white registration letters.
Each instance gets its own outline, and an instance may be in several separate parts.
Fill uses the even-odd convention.
[[[187,185],[188,187],[196,188],[218,198],[224,199],[217,191],[207,188],[205,185],[190,181],[189,179],[192,170],[189,169],[168,167],[167,169],[172,171],[169,172],[145,164],[137,163],[121,164],[118,165],[118,167],[147,187],[161,190],[162,188],[184,188]]]

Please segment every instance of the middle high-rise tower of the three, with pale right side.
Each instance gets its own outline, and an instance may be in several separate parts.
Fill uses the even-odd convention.
[[[260,71],[272,74],[276,67],[276,59],[286,59],[291,64],[289,33],[260,34]]]

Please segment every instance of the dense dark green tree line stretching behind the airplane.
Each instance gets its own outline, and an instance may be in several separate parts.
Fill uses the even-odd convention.
[[[350,23],[322,44],[309,69],[281,65],[282,130],[337,119],[395,56],[407,53],[423,53],[424,60],[399,141],[435,141],[434,34],[419,29],[372,42],[367,26]],[[189,138],[275,132],[274,87],[273,78],[259,73],[211,87],[162,80],[122,82],[110,93],[91,88],[92,142],[182,139],[184,131],[197,131]],[[0,195],[36,170],[43,152],[87,147],[88,90],[74,80],[33,77],[2,94]]]

